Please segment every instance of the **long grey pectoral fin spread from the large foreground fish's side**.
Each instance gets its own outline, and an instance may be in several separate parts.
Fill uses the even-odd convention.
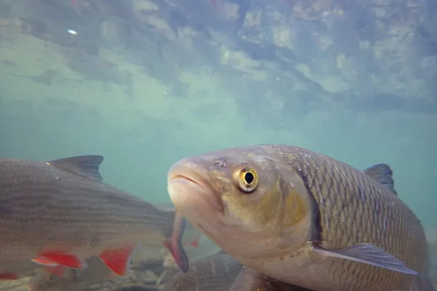
[[[394,256],[371,243],[360,243],[338,249],[313,246],[313,250],[328,257],[355,261],[405,274],[417,274]]]

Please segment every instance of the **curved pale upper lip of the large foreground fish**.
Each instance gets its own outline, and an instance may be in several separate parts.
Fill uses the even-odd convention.
[[[170,168],[167,183],[171,183],[175,180],[184,181],[185,183],[188,182],[202,189],[202,192],[210,193],[210,195],[207,195],[208,197],[204,198],[208,199],[216,210],[220,212],[224,211],[223,203],[220,198],[218,198],[216,191],[214,191],[214,189],[206,183],[205,179],[195,170],[185,165],[175,164]]]

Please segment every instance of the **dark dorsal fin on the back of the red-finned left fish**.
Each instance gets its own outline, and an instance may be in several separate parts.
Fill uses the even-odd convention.
[[[102,156],[79,156],[48,161],[47,163],[62,170],[101,182],[103,179],[99,173],[99,166],[102,162]]]

